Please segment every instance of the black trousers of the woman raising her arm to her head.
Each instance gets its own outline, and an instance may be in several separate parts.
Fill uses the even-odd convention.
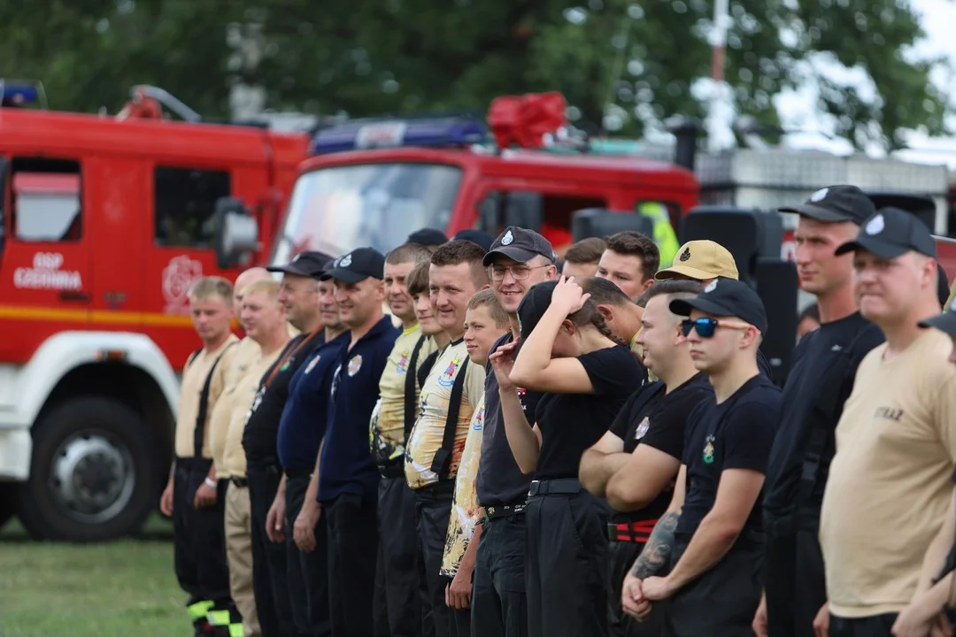
[[[608,635],[609,514],[585,491],[528,499],[525,585],[532,637]]]

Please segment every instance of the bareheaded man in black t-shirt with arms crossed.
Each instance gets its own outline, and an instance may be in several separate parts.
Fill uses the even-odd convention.
[[[670,503],[684,457],[687,415],[713,393],[690,357],[681,334],[683,317],[668,307],[671,300],[691,298],[702,289],[696,281],[664,281],[647,291],[637,342],[645,365],[661,380],[633,393],[611,430],[581,457],[581,484],[615,508],[608,524],[609,628],[615,637],[661,634],[663,613],[634,621],[621,610],[620,587]]]

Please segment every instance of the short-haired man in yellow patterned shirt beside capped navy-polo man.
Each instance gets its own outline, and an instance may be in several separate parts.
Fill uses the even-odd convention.
[[[415,265],[430,257],[420,244],[400,245],[385,257],[385,300],[392,315],[402,321],[402,334],[381,374],[369,435],[381,474],[376,624],[387,626],[382,632],[390,635],[416,635],[422,630],[415,495],[405,482],[405,438],[419,412],[417,372],[438,346],[419,325],[407,279]]]

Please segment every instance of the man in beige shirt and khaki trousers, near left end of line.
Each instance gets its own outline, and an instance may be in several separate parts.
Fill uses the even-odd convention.
[[[255,281],[243,289],[240,320],[249,338],[259,345],[260,354],[250,361],[250,367],[236,384],[229,401],[223,451],[223,469],[229,480],[225,520],[229,589],[242,614],[246,637],[257,637],[261,631],[252,592],[252,527],[242,435],[263,373],[289,342],[286,311],[279,304],[278,297],[279,284],[271,278]]]

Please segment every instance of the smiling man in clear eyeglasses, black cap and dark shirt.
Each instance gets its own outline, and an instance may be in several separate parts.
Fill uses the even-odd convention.
[[[532,230],[510,226],[491,244],[483,264],[491,289],[508,312],[511,331],[489,354],[521,333],[518,306],[534,284],[554,279],[557,255],[551,243]],[[475,555],[471,592],[471,634],[481,637],[527,635],[525,600],[525,499],[531,477],[521,473],[505,435],[498,381],[485,368],[485,425],[475,488],[485,511]],[[534,414],[540,393],[518,390],[525,414]],[[531,426],[531,425],[529,425]]]

